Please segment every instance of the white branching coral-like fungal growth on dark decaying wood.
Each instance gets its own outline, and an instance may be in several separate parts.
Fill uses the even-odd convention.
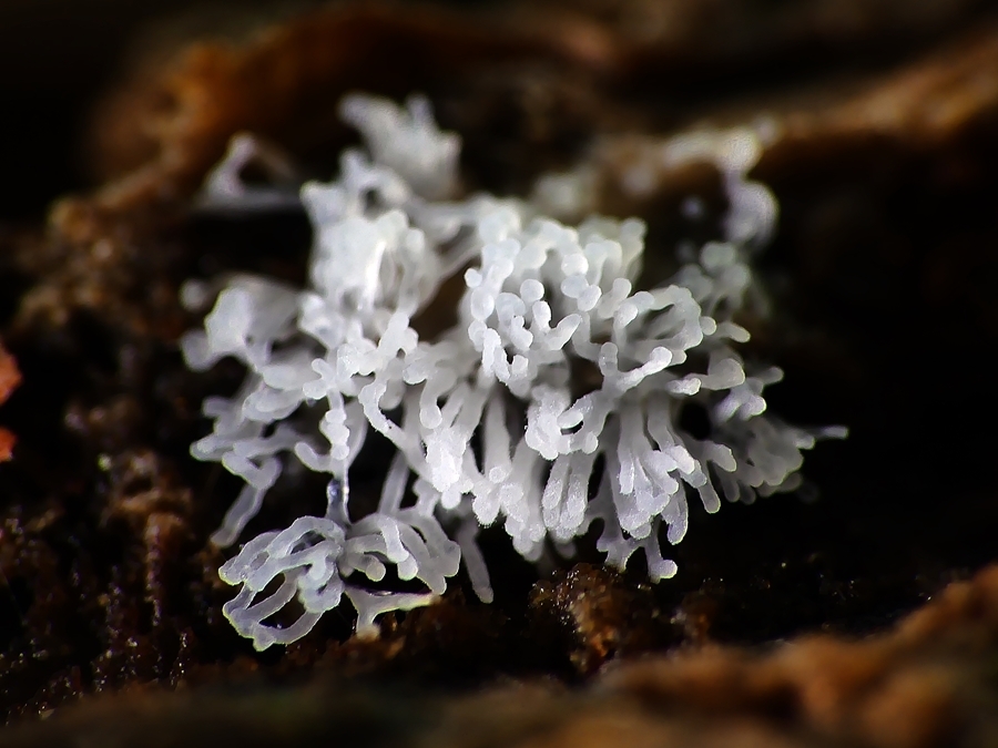
[[[536,561],[599,522],[609,564],[640,551],[653,580],[672,576],[660,539],[682,540],[690,490],[714,512],[722,495],[792,489],[801,450],[841,436],[771,417],[763,389],[782,372],[746,367],[736,350],[748,339],[734,321],[752,284],[747,250],[776,215],[746,178],[758,147],[745,132],[663,152],[717,162],[731,213],[722,240],[645,290],[640,221],[567,226],[534,203],[456,201],[459,141],[425,100],[401,110],[350,96],[342,113],[367,152],[345,152],[338,180],[302,189],[315,230],[309,287],[237,277],[182,341],[194,369],[225,356],[247,368],[234,397],[205,401],[214,429],[192,447],[246,483],[215,543],[242,535],[289,463],[329,475],[322,516],[258,535],[221,570],[241,587],[225,615],[257,648],[304,636],[344,597],[358,631],[373,631],[378,614],[442,594],[461,564],[491,600],[476,537],[493,523]],[[559,180],[541,193],[564,207],[591,202],[589,176]],[[457,325],[420,339],[414,316],[461,270]],[[706,437],[680,427],[688,408],[702,411]],[[358,516],[349,471],[370,429],[396,452],[377,510]],[[422,592],[385,588],[389,566]]]

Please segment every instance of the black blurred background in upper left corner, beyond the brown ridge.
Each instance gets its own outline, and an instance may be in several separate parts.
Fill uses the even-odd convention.
[[[40,218],[88,183],[95,101],[151,48],[233,35],[320,0],[0,0],[0,222]]]

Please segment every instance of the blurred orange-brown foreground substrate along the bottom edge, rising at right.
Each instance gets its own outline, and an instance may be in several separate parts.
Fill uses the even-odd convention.
[[[811,635],[763,650],[709,646],[621,662],[579,689],[543,680],[466,696],[403,685],[218,685],[98,698],[0,742],[438,748],[987,746],[998,730],[998,567],[885,634]]]

